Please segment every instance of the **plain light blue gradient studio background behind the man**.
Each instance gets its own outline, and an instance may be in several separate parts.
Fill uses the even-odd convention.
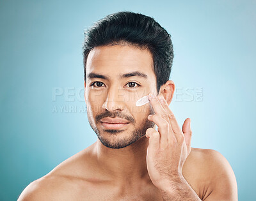
[[[82,100],[65,93],[83,88],[84,29],[124,10],[172,34],[170,79],[180,90],[170,108],[180,126],[191,118],[192,147],[227,158],[239,200],[255,200],[256,3],[231,0],[0,1],[0,200],[17,200],[29,182],[97,140],[86,113],[60,107],[84,107],[83,91]],[[63,89],[56,101],[54,87]],[[196,87],[203,100],[188,101],[184,90]]]

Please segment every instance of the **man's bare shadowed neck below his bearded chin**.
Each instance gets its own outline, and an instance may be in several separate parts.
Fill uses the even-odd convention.
[[[148,138],[143,136],[122,149],[111,149],[98,139],[95,144],[97,160],[104,174],[111,175],[118,183],[150,181],[147,171]]]

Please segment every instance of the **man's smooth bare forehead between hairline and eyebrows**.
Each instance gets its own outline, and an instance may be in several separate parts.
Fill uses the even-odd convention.
[[[95,47],[86,61],[86,75],[93,72],[116,77],[131,71],[141,71],[148,77],[154,76],[154,61],[149,50],[130,45]]]

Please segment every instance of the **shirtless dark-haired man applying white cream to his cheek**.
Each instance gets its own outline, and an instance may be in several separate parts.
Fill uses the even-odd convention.
[[[154,19],[122,11],[85,34],[84,97],[97,142],[31,182],[19,200],[237,200],[217,151],[191,147],[170,105],[173,46]],[[141,97],[149,103],[136,105]],[[158,129],[156,130],[156,126]]]

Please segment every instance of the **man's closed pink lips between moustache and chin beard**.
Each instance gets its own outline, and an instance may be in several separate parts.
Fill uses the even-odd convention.
[[[105,129],[119,129],[119,128],[124,128],[129,124],[129,121],[125,119],[120,119],[120,118],[110,118],[110,117],[105,117],[101,119],[100,123]]]

